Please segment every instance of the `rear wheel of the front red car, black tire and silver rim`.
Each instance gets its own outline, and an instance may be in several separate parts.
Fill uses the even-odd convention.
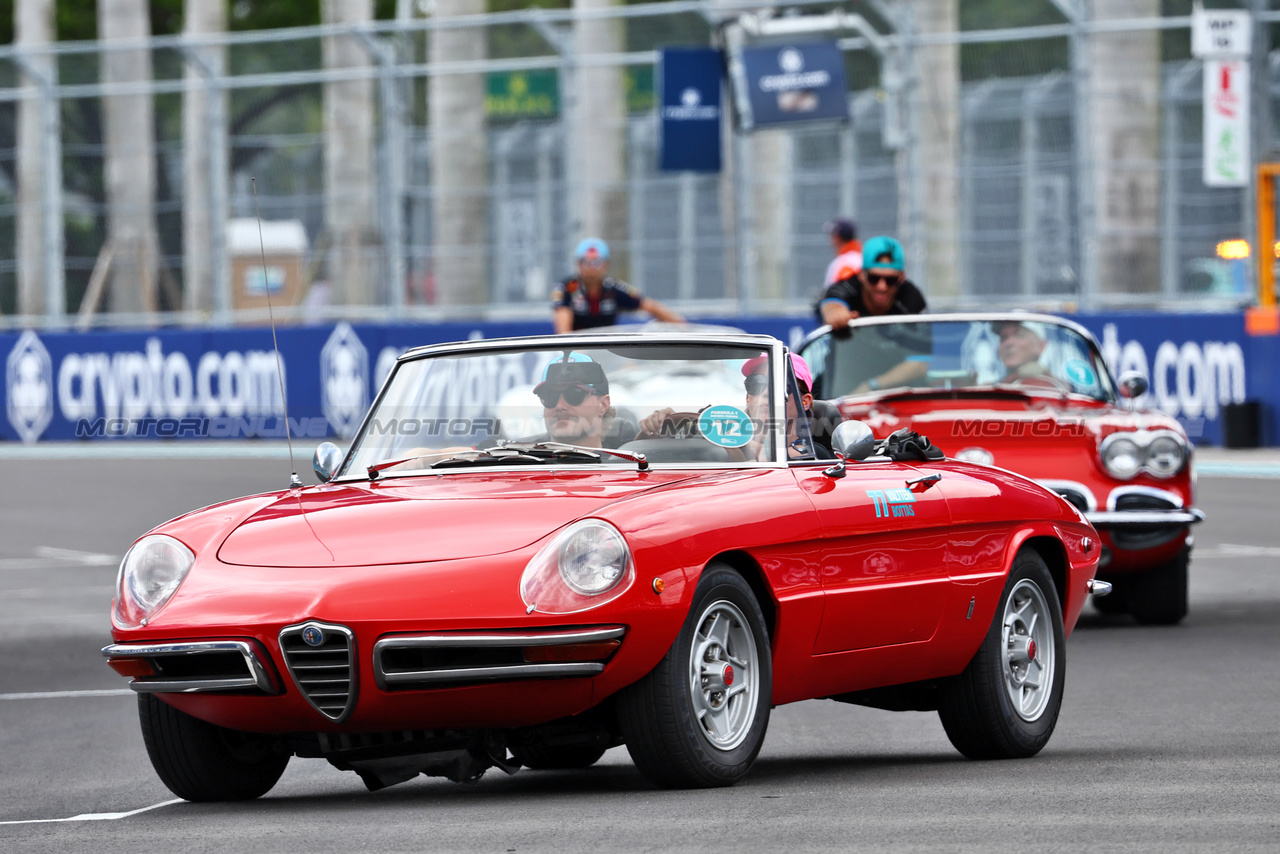
[[[1024,632],[1028,608],[1037,615],[1034,625],[1039,631],[1036,635]],[[1047,631],[1044,617],[1048,618]],[[1006,622],[1011,622],[1007,640]],[[1036,645],[1029,645],[1028,638],[1038,639]],[[1044,643],[1050,639],[1051,644]],[[1018,663],[1018,644],[1024,648],[1021,656],[1030,656],[1024,665]],[[1032,665],[1037,666],[1036,672]],[[1039,685],[1047,690],[1032,689],[1032,694],[1021,694],[1037,675]],[[1020,677],[1027,681],[1021,682]],[[982,647],[963,673],[942,685],[938,717],[951,744],[970,759],[1032,757],[1053,734],[1065,680],[1066,638],[1057,590],[1044,560],[1032,549],[1023,549],[1014,558]],[[1015,708],[1012,693],[1032,700],[1030,707]]]

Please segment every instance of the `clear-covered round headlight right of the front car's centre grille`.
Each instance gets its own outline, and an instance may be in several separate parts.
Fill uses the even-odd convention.
[[[635,580],[627,542],[605,521],[570,525],[525,567],[520,597],[529,611],[575,613],[618,598]]]

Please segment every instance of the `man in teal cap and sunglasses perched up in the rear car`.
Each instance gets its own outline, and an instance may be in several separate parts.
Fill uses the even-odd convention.
[[[892,237],[873,237],[863,246],[865,266],[829,286],[815,306],[818,319],[844,329],[854,318],[920,314],[924,294],[906,279],[902,245]]]

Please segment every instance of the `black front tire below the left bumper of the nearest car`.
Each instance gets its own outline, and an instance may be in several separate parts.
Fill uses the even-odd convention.
[[[138,694],[138,720],[151,766],[186,800],[260,798],[289,763],[268,736],[206,723],[151,694]]]

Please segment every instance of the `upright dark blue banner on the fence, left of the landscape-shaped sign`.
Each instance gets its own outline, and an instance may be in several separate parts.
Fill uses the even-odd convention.
[[[721,170],[721,52],[705,47],[667,47],[662,78],[659,168],[666,172]]]

